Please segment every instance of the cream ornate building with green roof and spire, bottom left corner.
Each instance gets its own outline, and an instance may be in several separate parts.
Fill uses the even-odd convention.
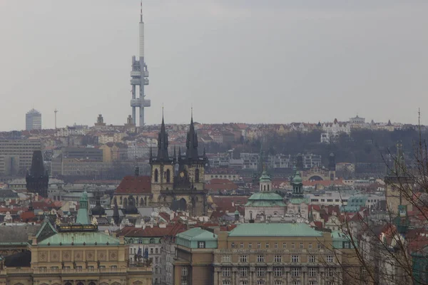
[[[48,219],[30,237],[29,251],[0,261],[0,284],[148,285],[150,261],[131,266],[123,237],[98,232],[88,218],[83,192],[75,224],[52,225]]]

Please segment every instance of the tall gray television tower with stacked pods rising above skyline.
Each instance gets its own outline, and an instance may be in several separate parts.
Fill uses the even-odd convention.
[[[131,70],[131,108],[132,108],[132,121],[136,125],[136,108],[140,110],[140,128],[144,126],[144,108],[151,106],[151,101],[146,99],[144,93],[144,86],[148,85],[148,70],[144,62],[144,22],[143,22],[143,0],[140,4],[140,23],[139,23],[139,54],[138,60],[136,56],[132,57],[132,70]],[[140,94],[136,98],[136,86]]]

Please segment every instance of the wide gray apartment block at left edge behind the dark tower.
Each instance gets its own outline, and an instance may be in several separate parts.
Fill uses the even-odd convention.
[[[34,150],[41,150],[41,140],[0,140],[0,174],[24,175]]]

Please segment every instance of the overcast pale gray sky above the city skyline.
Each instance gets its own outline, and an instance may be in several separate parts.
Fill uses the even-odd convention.
[[[232,2],[233,4],[230,4]],[[0,0],[0,130],[131,114],[139,0]],[[428,124],[428,1],[144,0],[146,122]]]

